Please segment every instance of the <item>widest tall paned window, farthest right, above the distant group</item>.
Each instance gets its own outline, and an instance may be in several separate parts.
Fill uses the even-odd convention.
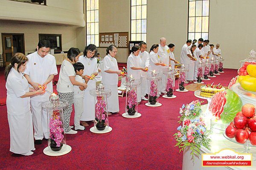
[[[188,39],[208,40],[209,0],[189,0]]]

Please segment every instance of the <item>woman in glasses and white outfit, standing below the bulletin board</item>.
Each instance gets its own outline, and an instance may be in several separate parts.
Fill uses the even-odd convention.
[[[119,70],[115,59],[117,48],[115,45],[110,45],[106,49],[107,55],[103,59],[103,75],[102,84],[105,88],[111,89],[111,96],[108,97],[108,115],[119,113],[118,101],[118,76],[121,76],[122,71]]]

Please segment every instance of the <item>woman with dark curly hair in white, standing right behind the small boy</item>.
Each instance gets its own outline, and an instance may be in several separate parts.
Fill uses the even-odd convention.
[[[81,124],[88,126],[86,121],[93,121],[95,119],[95,98],[90,95],[90,90],[96,88],[96,80],[90,79],[92,75],[98,75],[96,45],[90,44],[84,48],[84,55],[79,57],[79,61],[84,65],[83,79],[87,82],[87,88],[84,90],[84,113],[81,116]]]

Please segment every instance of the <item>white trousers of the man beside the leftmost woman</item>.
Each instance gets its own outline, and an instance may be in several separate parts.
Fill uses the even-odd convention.
[[[42,140],[49,138],[47,111],[42,109],[42,102],[35,102],[30,100],[33,125],[34,125],[34,138],[35,140]],[[50,119],[50,118],[49,118]]]

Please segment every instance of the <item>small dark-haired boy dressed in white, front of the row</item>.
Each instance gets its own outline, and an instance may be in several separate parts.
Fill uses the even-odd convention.
[[[74,70],[76,72],[76,81],[83,83],[83,73],[84,73],[84,65],[81,62],[76,62],[73,64]],[[88,87],[88,86],[87,86]],[[74,116],[74,125],[75,130],[85,130],[84,126],[80,125],[80,119],[82,116],[82,113],[84,112],[84,86],[74,86],[74,110],[75,110],[75,116]]]

